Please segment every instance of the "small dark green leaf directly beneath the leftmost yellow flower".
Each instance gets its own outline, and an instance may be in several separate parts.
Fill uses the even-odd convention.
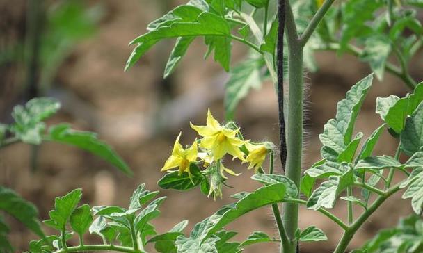
[[[183,172],[179,175],[178,171],[169,172],[162,177],[157,184],[163,189],[175,189],[175,190],[190,190],[198,186],[205,177],[201,174],[198,165],[191,163],[191,178],[187,172]]]

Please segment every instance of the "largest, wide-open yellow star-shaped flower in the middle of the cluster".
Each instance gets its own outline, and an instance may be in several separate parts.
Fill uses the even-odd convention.
[[[232,130],[225,128],[214,119],[210,109],[207,112],[206,126],[194,126],[191,122],[191,128],[202,136],[200,147],[209,149],[212,152],[214,161],[221,159],[225,154],[239,158],[244,161],[244,154],[239,147],[244,145],[245,141],[237,138],[239,129]]]

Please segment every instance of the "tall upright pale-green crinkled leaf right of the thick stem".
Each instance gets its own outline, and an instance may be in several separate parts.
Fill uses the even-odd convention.
[[[360,111],[362,102],[372,85],[373,75],[365,77],[356,85],[346,92],[346,98],[342,99],[337,104],[337,113],[335,119],[331,119],[324,126],[324,132],[320,134],[319,138],[322,147],[322,156],[333,160],[338,157],[347,145],[351,142],[353,127]],[[333,154],[327,156],[328,150]]]

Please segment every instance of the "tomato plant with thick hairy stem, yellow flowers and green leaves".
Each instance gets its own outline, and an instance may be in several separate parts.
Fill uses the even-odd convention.
[[[264,186],[251,193],[233,195],[236,202],[198,222],[189,235],[183,232],[185,221],[162,234],[155,231],[150,221],[159,215],[158,207],[164,197],[154,199],[158,193],[145,190],[144,185],[134,192],[128,208],[90,208],[87,204],[77,207],[81,190],[74,190],[56,198],[55,209],[45,221],[58,230],[58,235],[31,242],[29,251],[139,253],[145,252],[145,245],[153,243],[157,252],[226,253],[241,252],[253,243],[278,241],[280,252],[294,253],[299,252],[300,243],[327,240],[317,227],[298,227],[298,207],[303,205],[326,216],[344,231],[334,251],[342,253],[365,221],[386,199],[402,189],[405,189],[402,197],[411,199],[413,211],[421,215],[423,83],[417,83],[408,71],[410,60],[422,47],[423,28],[417,19],[420,7],[419,0],[191,0],[170,10],[130,43],[134,51],[125,70],[154,44],[175,39],[164,71],[166,78],[193,40],[201,37],[208,47],[206,57],[214,54],[214,60],[230,73],[230,79],[225,94],[227,121],[218,122],[208,111],[205,124],[191,123],[193,131],[198,133],[191,145],[184,147],[179,134],[161,168],[166,174],[159,180],[159,186],[176,190],[199,188],[216,199],[224,194],[226,181],[237,176],[225,168],[228,156],[248,163],[248,168],[254,168],[251,178]],[[248,48],[246,59],[234,67],[231,65],[233,42]],[[305,69],[317,71],[313,54],[321,50],[357,56],[369,64],[374,74],[352,85],[346,97],[338,102],[336,115],[319,135],[321,160],[302,172],[303,75]],[[410,93],[401,98],[378,97],[376,113],[384,123],[365,137],[356,131],[356,119],[374,76],[383,81],[386,73],[397,76]],[[273,170],[276,145],[245,140],[233,121],[239,101],[265,79],[272,81],[278,93],[278,145],[284,174],[275,174]],[[397,140],[394,156],[373,154],[385,131]],[[407,156],[406,162],[400,161],[401,155]],[[264,163],[266,159],[269,165]],[[393,183],[396,174],[401,181]],[[361,194],[356,194],[354,188],[360,189]],[[346,205],[346,217],[330,212],[335,204]],[[362,206],[362,211],[358,213],[353,205]],[[265,206],[271,206],[279,238],[256,231],[242,242],[230,241],[237,232],[227,231],[225,226]],[[381,231],[374,240],[353,252],[420,252],[421,225],[418,218],[408,218],[397,229]],[[68,247],[66,242],[72,237],[69,228],[79,236],[79,245]],[[87,231],[102,237],[103,243],[86,245],[83,234]]]

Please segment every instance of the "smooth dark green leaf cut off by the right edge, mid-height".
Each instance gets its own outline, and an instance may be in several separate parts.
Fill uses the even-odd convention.
[[[407,118],[404,131],[401,132],[401,149],[408,156],[423,147],[423,102],[415,112]]]

